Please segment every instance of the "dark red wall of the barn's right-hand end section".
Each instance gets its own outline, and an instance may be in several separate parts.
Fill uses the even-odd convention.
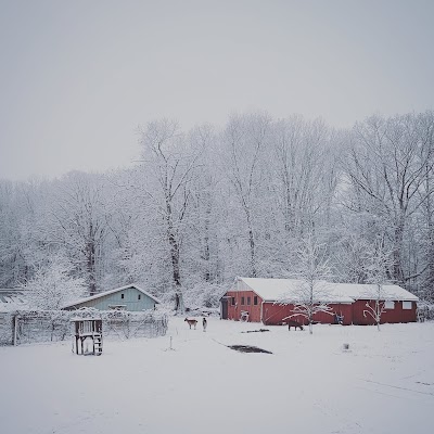
[[[358,326],[371,326],[374,324],[374,319],[367,314],[363,316],[363,311],[367,310],[367,299],[358,299],[353,304],[353,321]],[[374,302],[369,302],[373,307]],[[411,302],[411,309],[403,309],[403,302],[395,302],[394,309],[386,309],[381,316],[381,323],[396,323],[396,322],[416,322],[416,302]]]

